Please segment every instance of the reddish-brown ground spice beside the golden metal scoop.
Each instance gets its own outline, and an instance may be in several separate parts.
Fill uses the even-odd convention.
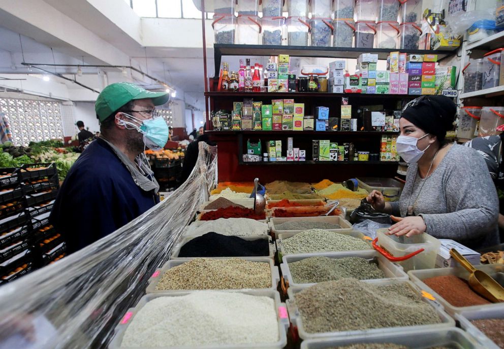
[[[490,304],[472,291],[465,280],[455,275],[429,277],[423,282],[453,306]]]

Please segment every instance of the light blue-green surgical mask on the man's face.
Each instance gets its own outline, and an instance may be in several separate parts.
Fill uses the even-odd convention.
[[[130,114],[122,114],[137,121],[140,125],[137,125],[134,122],[118,119],[119,125],[126,126],[128,129],[136,129],[138,132],[142,133],[143,142],[147,148],[152,150],[163,149],[166,142],[168,142],[169,132],[168,124],[165,119],[157,117],[155,119],[139,120]],[[128,126],[132,128],[129,128]]]

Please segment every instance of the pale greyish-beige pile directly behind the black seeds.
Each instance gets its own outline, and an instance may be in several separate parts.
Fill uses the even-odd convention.
[[[249,218],[219,218],[214,221],[202,221],[199,227],[190,225],[186,235],[204,235],[210,231],[222,235],[254,236],[267,235],[268,225]]]

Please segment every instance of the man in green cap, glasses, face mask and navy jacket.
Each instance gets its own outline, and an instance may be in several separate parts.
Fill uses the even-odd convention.
[[[168,125],[155,106],[168,102],[121,82],[103,89],[95,110],[101,136],[84,150],[59,190],[51,222],[65,237],[67,252],[78,251],[137,218],[159,200],[144,150],[162,149]]]

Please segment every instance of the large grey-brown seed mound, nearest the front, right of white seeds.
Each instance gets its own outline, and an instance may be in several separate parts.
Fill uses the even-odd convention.
[[[306,332],[337,332],[440,323],[407,284],[377,286],[345,278],[316,284],[294,301]]]

